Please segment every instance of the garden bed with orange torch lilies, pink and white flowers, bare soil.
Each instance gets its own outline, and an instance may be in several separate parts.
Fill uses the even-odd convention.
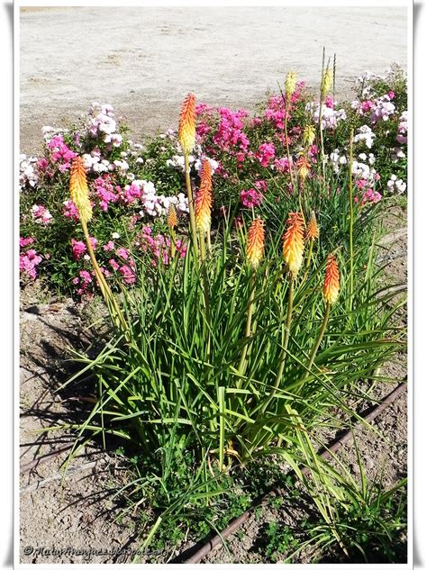
[[[92,562],[174,560],[274,482],[206,562],[404,561],[404,397],[315,456],[405,377],[405,80],[334,83],[288,74],[254,117],[189,95],[143,145],[94,104],[23,157],[22,464],[86,439],[64,481],[67,454],[24,470],[23,562],[87,533],[117,548]]]

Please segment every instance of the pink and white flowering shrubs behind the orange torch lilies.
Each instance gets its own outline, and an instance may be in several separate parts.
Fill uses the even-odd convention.
[[[204,159],[211,166],[213,226],[235,208],[259,210],[274,201],[285,207],[286,200],[302,192],[295,185],[296,175],[305,192],[312,193],[322,166],[322,149],[325,166],[340,186],[349,161],[350,128],[355,202],[363,207],[376,204],[383,195],[402,194],[407,144],[403,73],[392,68],[385,77],[364,74],[356,89],[358,96],[351,102],[340,103],[325,95],[320,122],[323,147],[316,136],[321,105],[302,82],[295,83],[287,100],[283,94],[268,95],[254,116],[244,109],[197,104],[195,146],[188,163],[195,185]],[[136,281],[132,263],[107,255],[121,247],[130,251],[131,259],[149,256],[150,264],[160,259],[168,264],[169,206],[176,207],[181,227],[186,227],[188,213],[184,155],[177,132],[168,130],[144,144],[136,143],[113,107],[95,102],[77,125],[44,127],[43,138],[44,156],[21,155],[20,161],[22,231],[35,240],[39,252],[23,254],[22,274],[32,279],[37,273],[50,275],[51,284],[72,287],[77,294],[96,288],[93,279],[80,274],[89,271],[88,255],[76,227],[77,209],[68,194],[71,161],[77,155],[86,167],[93,208],[91,232],[105,278],[113,287],[119,281],[125,285]],[[178,239],[177,248],[184,255],[186,235]]]

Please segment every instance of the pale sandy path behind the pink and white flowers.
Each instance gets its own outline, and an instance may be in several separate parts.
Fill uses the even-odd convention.
[[[183,95],[252,107],[289,69],[316,85],[323,45],[338,93],[369,69],[406,62],[406,9],[73,7],[21,14],[21,149],[41,127],[113,104],[135,136],[176,126]]]

